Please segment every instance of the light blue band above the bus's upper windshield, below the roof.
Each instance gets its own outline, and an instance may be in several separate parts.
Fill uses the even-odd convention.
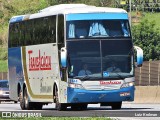
[[[104,19],[128,19],[127,13],[81,13],[81,14],[68,14],[66,21],[72,20],[104,20]]]

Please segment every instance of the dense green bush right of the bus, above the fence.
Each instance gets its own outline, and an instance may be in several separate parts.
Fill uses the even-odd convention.
[[[160,60],[160,33],[154,21],[145,19],[132,26],[132,37],[134,44],[143,49],[145,61]]]

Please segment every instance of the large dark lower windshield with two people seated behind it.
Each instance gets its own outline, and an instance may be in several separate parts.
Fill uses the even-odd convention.
[[[97,80],[133,76],[131,40],[71,40],[67,49],[70,77]]]

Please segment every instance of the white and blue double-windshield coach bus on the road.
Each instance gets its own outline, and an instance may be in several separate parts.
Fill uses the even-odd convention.
[[[50,103],[57,110],[121,109],[122,101],[134,100],[135,67],[142,63],[123,9],[60,4],[9,21],[10,98],[22,110]],[[80,73],[83,65],[87,74]]]

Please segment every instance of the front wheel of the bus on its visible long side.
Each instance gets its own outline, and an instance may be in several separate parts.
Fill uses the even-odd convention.
[[[58,99],[58,90],[56,90],[55,92],[55,99],[56,99],[56,109],[59,111],[63,111],[66,110],[67,106],[65,106],[65,104],[59,103],[59,99]]]

